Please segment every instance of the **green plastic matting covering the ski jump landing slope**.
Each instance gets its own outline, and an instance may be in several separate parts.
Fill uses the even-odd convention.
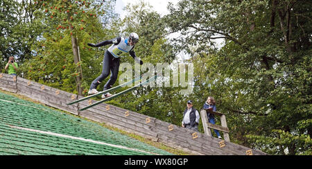
[[[0,155],[172,155],[49,107],[0,92]]]

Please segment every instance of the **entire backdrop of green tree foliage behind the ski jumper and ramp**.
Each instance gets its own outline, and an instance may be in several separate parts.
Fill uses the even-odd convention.
[[[185,62],[194,66],[193,93],[182,95],[182,87],[137,88],[108,103],[180,126],[187,100],[200,110],[212,96],[217,111],[227,117],[232,142],[272,155],[311,155],[311,3],[180,0],[161,17],[141,1],[125,8],[123,20],[112,4],[1,1],[6,12],[0,14],[0,66],[14,56],[21,77],[74,93],[82,77],[87,92],[101,74],[108,48],[87,43],[137,32],[135,52],[144,63],[170,64],[181,53],[191,58]],[[169,39],[175,32],[181,36]],[[73,44],[80,61],[73,57]],[[135,70],[132,57],[121,63]]]

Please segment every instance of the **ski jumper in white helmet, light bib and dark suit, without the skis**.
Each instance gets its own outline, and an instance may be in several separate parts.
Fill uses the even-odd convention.
[[[94,81],[92,81],[88,92],[89,95],[98,93],[96,90],[97,86],[110,74],[110,72],[110,79],[105,84],[103,91],[112,88],[118,77],[121,54],[129,53],[137,63],[140,63],[140,65],[143,64],[143,61],[141,61],[141,59],[135,55],[135,51],[133,50],[133,48],[135,48],[135,44],[138,41],[139,35],[137,35],[135,32],[132,32],[129,37],[116,37],[114,39],[102,41],[101,43],[97,44],[87,43],[88,46],[92,47],[101,47],[112,44],[112,46],[110,46],[110,48],[108,48],[104,54],[102,73],[100,76],[96,77]],[[107,92],[105,95],[102,95],[102,98],[110,96],[112,95]]]

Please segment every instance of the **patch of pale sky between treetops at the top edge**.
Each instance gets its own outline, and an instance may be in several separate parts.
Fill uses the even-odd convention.
[[[120,14],[121,19],[125,17],[126,12],[123,10],[125,6],[127,6],[128,3],[130,4],[136,4],[139,3],[140,0],[116,0],[116,12]],[[168,2],[172,2],[173,4],[176,4],[180,0],[144,0],[145,2],[148,2],[150,6],[154,8],[156,12],[158,12],[161,15],[168,14],[167,5]]]

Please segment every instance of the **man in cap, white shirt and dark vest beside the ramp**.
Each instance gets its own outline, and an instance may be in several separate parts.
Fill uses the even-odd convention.
[[[198,110],[193,108],[193,102],[187,101],[187,109],[183,113],[182,127],[198,131],[200,115]]]

